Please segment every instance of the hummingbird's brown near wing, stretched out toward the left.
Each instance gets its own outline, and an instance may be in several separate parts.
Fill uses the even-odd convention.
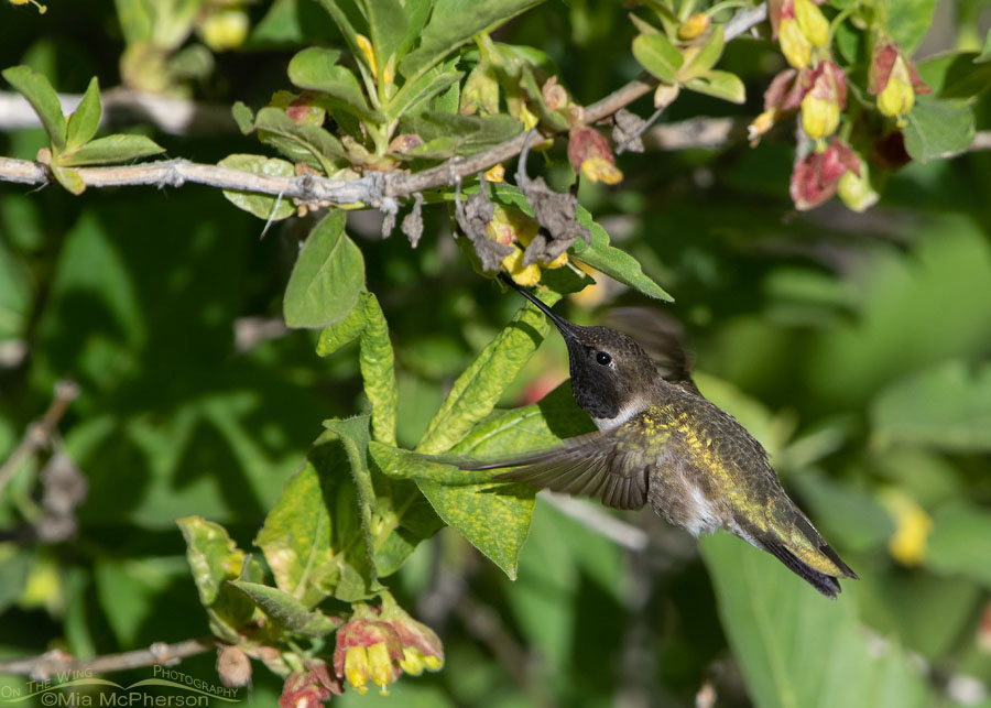
[[[614,509],[640,509],[647,501],[647,464],[642,450],[625,444],[621,428],[564,440],[560,447],[523,457],[461,465],[461,469],[501,469],[500,481],[596,497]]]

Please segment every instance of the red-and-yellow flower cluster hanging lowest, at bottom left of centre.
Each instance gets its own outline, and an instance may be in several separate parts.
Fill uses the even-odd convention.
[[[368,691],[370,682],[385,696],[403,672],[418,676],[443,665],[437,635],[388,596],[380,608],[356,604],[351,620],[337,631],[334,671],[359,694]]]

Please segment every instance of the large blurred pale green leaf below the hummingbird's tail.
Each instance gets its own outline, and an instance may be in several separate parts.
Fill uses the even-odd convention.
[[[762,708],[930,706],[897,645],[871,646],[847,595],[829,602],[771,554],[725,532],[700,540],[719,616],[754,705]],[[856,592],[856,581],[845,589]]]

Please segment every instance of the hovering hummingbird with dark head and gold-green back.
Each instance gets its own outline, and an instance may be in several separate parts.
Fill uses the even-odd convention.
[[[625,334],[575,325],[503,280],[557,327],[568,347],[575,400],[598,432],[465,469],[513,468],[496,479],[598,498],[616,509],[650,504],[694,536],[723,529],[771,553],[830,599],[840,591],[839,578],[857,579],[785,493],[761,444],[701,395],[684,349],[669,346],[669,333],[660,335],[668,340],[666,360],[655,362]]]

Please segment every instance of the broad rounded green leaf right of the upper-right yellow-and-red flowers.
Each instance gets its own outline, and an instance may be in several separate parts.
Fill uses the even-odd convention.
[[[905,127],[905,150],[913,160],[952,157],[973,142],[973,110],[957,101],[917,96]]]

